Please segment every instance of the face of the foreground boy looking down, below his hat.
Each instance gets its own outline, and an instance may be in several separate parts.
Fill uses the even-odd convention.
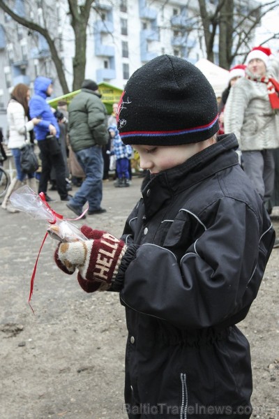
[[[140,167],[156,175],[163,170],[174,168],[190,159],[194,154],[208,147],[205,142],[195,142],[183,145],[132,145],[140,155]]]

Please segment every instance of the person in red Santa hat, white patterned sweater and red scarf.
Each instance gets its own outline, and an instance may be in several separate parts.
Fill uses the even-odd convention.
[[[279,61],[269,48],[255,47],[246,64],[246,77],[227,99],[225,133],[236,135],[243,169],[268,205],[274,186],[273,150],[279,147],[279,83],[274,72]]]

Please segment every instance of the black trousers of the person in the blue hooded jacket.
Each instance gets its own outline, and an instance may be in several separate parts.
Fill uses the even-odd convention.
[[[61,199],[68,196],[66,189],[66,168],[62,152],[51,154],[50,145],[47,140],[38,140],[40,159],[42,161],[42,172],[40,173],[39,193],[47,193],[47,182],[50,180],[52,168],[55,171],[57,191]]]

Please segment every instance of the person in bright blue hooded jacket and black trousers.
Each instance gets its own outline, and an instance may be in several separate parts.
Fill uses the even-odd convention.
[[[66,168],[59,146],[59,124],[52,112],[52,108],[46,102],[46,98],[51,96],[52,91],[52,80],[39,76],[34,82],[35,94],[29,102],[30,116],[33,115],[31,118],[40,118],[40,123],[34,129],[40,149],[40,159],[42,161],[38,193],[45,193],[46,200],[51,200],[47,196],[47,183],[50,179],[50,171],[53,166],[59,196],[61,200],[69,200],[70,196],[68,196],[66,188]]]

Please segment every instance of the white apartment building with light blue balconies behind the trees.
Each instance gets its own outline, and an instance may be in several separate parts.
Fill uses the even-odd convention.
[[[82,5],[83,1],[80,2]],[[242,3],[250,3],[250,0]],[[45,26],[63,61],[68,87],[73,85],[75,42],[66,0],[12,0],[17,15]],[[216,0],[207,0],[213,8]],[[197,23],[197,0],[96,0],[87,26],[86,78],[123,89],[130,75],[153,57],[174,54],[195,64],[205,57],[203,34]],[[213,47],[218,64],[218,45]],[[61,96],[50,47],[0,9],[0,126],[6,128],[10,89],[22,82],[33,88],[37,75],[54,82]]]

